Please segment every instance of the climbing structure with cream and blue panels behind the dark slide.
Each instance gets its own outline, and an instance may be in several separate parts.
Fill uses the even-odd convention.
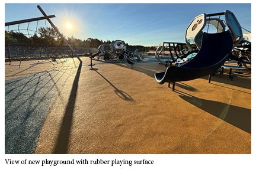
[[[236,27],[239,27],[238,30],[234,30]],[[251,64],[251,42],[243,39],[241,28],[231,11],[201,14],[188,25],[185,31],[185,43],[162,42],[155,51],[155,57],[159,63],[166,66],[172,63],[175,63],[176,66],[183,65],[190,61],[200,50],[203,32],[220,33],[229,30],[232,34],[234,48],[227,60],[236,60],[238,66],[243,64],[247,67],[246,64]],[[183,53],[180,53],[180,50]],[[166,55],[165,51],[169,51],[169,54]]]

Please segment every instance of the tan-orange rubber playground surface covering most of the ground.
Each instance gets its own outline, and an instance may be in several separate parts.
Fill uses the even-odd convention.
[[[173,92],[153,77],[166,67],[147,59],[133,69],[93,61],[95,70],[88,58],[82,67],[74,60],[77,70],[63,74],[68,78],[50,103],[35,153],[251,153],[248,73],[177,83]],[[69,61],[65,71],[74,66]],[[21,66],[6,65],[5,78],[62,64]]]

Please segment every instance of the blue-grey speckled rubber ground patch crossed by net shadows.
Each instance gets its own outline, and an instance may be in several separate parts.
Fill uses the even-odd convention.
[[[34,153],[47,112],[72,71],[62,66],[5,81],[5,153]]]

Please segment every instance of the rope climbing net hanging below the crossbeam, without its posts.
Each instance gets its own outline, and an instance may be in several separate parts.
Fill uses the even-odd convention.
[[[5,62],[20,61],[21,65],[21,61],[26,59],[44,59],[55,64],[73,56],[68,44],[47,19],[42,18],[5,23]]]

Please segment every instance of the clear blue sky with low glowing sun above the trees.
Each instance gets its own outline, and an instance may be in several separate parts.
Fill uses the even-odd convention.
[[[63,34],[82,40],[124,40],[131,45],[184,42],[194,17],[226,9],[251,31],[251,4],[5,4],[5,22],[41,17],[37,5],[47,15],[56,15],[52,21]],[[66,22],[73,28],[66,28]]]

